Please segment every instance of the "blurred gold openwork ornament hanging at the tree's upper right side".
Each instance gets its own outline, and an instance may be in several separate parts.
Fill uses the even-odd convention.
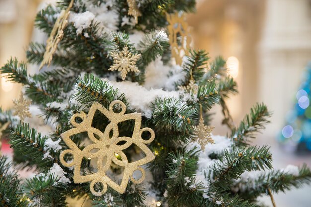
[[[189,55],[191,36],[188,24],[185,21],[185,14],[179,15],[178,12],[173,14],[166,13],[166,19],[169,23],[167,26],[168,38],[171,46],[172,57],[175,58],[176,64],[182,64],[184,55]]]

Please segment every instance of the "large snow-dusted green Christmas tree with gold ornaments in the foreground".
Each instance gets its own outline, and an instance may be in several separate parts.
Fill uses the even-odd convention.
[[[256,104],[239,125],[223,58],[191,48],[194,0],[60,0],[36,17],[48,35],[27,63],[1,69],[23,84],[0,123],[14,150],[0,158],[3,207],[262,207],[257,198],[311,180],[305,165],[273,169],[250,138],[270,113]],[[40,72],[27,74],[27,64]],[[222,106],[226,137],[212,135]],[[35,175],[22,180],[18,169]]]

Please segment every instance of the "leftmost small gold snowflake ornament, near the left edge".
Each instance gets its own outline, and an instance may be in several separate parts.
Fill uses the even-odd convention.
[[[31,100],[25,99],[22,92],[20,93],[19,99],[13,100],[13,103],[15,105],[13,115],[19,116],[21,122],[24,122],[26,117],[31,117],[31,113],[29,112]]]

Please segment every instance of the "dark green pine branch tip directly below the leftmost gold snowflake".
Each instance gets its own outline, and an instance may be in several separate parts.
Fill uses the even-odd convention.
[[[28,124],[18,124],[11,132],[9,144],[14,148],[16,161],[22,167],[38,167],[46,169],[53,165],[53,160],[44,158],[44,142],[46,136],[42,137],[35,129],[30,129]]]

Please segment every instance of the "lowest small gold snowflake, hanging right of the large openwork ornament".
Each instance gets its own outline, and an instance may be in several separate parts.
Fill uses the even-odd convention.
[[[197,141],[200,144],[202,151],[204,151],[205,145],[207,145],[208,143],[215,143],[213,138],[211,137],[211,133],[213,130],[214,127],[206,126],[204,124],[202,116],[202,106],[200,105],[200,121],[197,126],[194,126],[194,141]]]

